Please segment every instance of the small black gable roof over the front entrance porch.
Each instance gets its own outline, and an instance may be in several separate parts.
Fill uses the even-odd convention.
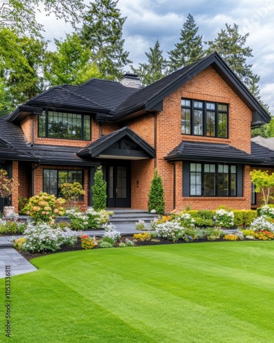
[[[127,141],[125,141],[126,139]],[[115,143],[123,140],[123,146],[115,146],[115,149],[112,149],[112,146]],[[128,126],[111,132],[110,134],[105,134],[105,136],[99,137],[99,139],[97,139],[96,141],[86,145],[86,147],[79,150],[77,154],[79,156],[90,156],[94,158],[98,157],[99,155],[101,157],[107,156],[107,152],[109,154],[108,156],[111,156],[112,153],[116,153],[116,155],[112,155],[112,158],[140,159],[155,157],[154,148],[151,147],[149,143],[142,139]]]

